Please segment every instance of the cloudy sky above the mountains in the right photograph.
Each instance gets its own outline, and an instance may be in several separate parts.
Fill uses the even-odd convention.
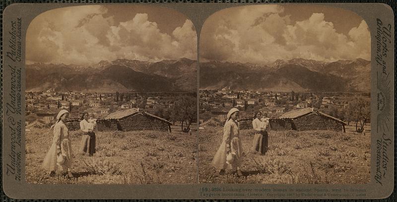
[[[200,61],[268,64],[303,58],[370,60],[370,32],[356,13],[313,5],[249,5],[220,10],[200,33]]]

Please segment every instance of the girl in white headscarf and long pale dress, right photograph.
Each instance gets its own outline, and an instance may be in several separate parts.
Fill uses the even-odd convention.
[[[223,174],[228,164],[231,164],[233,170],[237,170],[237,174],[243,176],[240,170],[243,157],[243,145],[241,143],[240,130],[237,123],[238,117],[239,110],[236,108],[231,109],[227,114],[226,123],[223,127],[222,142],[212,160],[212,165],[220,169],[219,174]],[[228,160],[226,160],[226,158],[228,158]]]

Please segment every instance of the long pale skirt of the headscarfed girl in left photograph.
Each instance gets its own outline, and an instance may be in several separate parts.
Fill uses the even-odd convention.
[[[63,139],[61,141],[61,154],[65,156],[65,163],[62,165],[57,165],[57,144],[54,142],[50,149],[48,150],[46,157],[44,157],[43,168],[49,171],[67,171],[68,168],[71,168],[71,162],[73,158],[73,154],[71,153],[71,145],[69,139]]]

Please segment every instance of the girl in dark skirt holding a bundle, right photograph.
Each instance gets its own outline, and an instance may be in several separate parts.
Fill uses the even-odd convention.
[[[266,128],[268,127],[267,122],[261,120],[262,113],[256,112],[255,119],[252,121],[252,126],[255,131],[254,135],[254,143],[252,146],[252,150],[254,153],[258,153],[259,155],[265,155],[268,146],[268,135],[266,132]]]

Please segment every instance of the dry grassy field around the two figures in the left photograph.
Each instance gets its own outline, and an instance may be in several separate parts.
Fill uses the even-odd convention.
[[[197,183],[197,138],[182,132],[98,132],[97,152],[78,155],[81,134],[70,132],[75,158],[67,179],[50,177],[41,166],[53,134],[46,128],[26,133],[26,181],[32,184],[193,184]]]

